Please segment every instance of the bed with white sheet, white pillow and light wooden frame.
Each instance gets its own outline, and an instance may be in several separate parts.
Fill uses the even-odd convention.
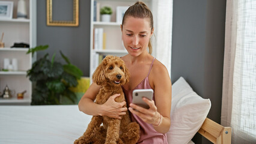
[[[177,80],[168,142],[190,144],[198,132],[213,143],[231,143],[231,128],[206,118],[209,110],[210,100],[195,94],[182,77]],[[0,106],[0,143],[73,143],[90,121],[78,105]]]

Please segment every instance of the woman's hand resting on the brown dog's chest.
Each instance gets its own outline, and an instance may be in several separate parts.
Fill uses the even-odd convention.
[[[101,116],[121,119],[121,115],[126,115],[127,107],[123,107],[126,105],[126,101],[121,103],[117,103],[115,101],[115,98],[119,96],[120,94],[114,94],[109,97],[105,104],[102,104],[102,112],[100,113]]]

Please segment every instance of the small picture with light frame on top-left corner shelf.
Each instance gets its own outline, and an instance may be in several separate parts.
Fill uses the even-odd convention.
[[[0,19],[13,19],[13,1],[0,1]]]

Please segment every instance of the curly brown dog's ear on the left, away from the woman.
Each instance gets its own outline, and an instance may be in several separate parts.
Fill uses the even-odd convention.
[[[103,86],[106,84],[105,67],[106,61],[103,60],[93,73],[93,82],[97,85]]]

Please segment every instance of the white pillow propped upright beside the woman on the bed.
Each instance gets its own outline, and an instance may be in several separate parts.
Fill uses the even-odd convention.
[[[197,95],[180,77],[172,85],[171,127],[168,143],[187,144],[202,126],[209,113],[211,102]]]

